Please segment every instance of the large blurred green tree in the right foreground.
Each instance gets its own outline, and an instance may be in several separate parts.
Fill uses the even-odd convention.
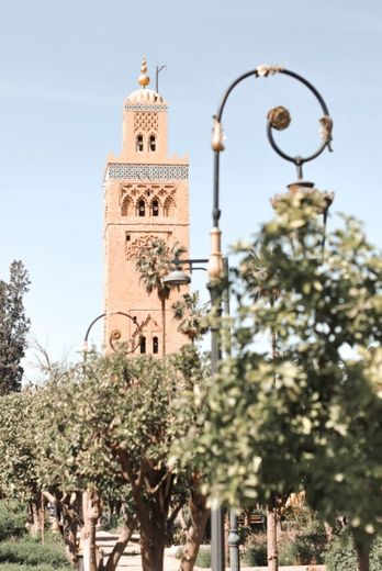
[[[382,261],[351,217],[324,250],[324,209],[315,190],[288,194],[255,243],[238,246],[234,357],[211,381],[196,446],[220,502],[303,486],[324,520],[347,517],[368,570],[382,522]],[[252,253],[263,247],[272,271],[259,295]]]

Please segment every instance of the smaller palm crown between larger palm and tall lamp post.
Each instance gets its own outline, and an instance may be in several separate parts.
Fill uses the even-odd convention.
[[[207,303],[201,303],[198,291],[184,293],[182,299],[172,303],[173,317],[179,322],[178,329],[187,335],[194,345],[206,331]]]

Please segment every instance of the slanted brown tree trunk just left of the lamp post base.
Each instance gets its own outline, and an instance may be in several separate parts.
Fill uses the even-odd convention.
[[[189,506],[191,525],[187,531],[186,545],[180,560],[180,571],[192,571],[210,516],[210,510],[206,507],[206,496],[199,492],[191,492]]]

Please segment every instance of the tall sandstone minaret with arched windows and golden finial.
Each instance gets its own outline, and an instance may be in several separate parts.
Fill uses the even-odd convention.
[[[148,295],[139,281],[136,260],[141,248],[157,238],[189,250],[189,163],[187,157],[168,157],[167,103],[147,88],[145,58],[138,82],[139,89],[123,107],[122,154],[108,157],[103,181],[104,346],[110,347],[111,338],[136,338],[134,355],[161,356],[161,304],[157,293]],[[166,305],[166,352],[187,343],[171,312],[173,301],[186,291],[172,290]],[[133,318],[141,327],[141,343]]]

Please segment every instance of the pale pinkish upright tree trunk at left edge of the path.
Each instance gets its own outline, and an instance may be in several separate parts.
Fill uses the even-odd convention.
[[[101,516],[101,500],[97,492],[87,490],[82,493],[82,514],[81,545],[83,571],[98,571],[96,526]]]

